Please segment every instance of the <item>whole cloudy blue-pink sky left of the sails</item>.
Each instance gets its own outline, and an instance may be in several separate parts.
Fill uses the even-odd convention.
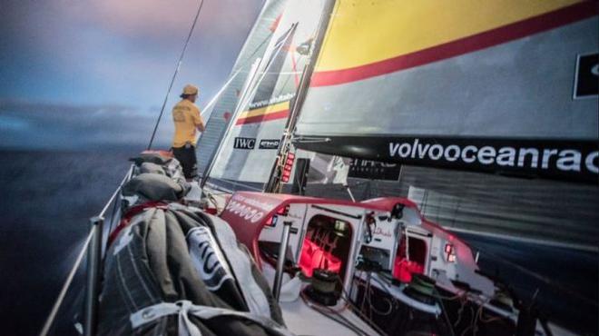
[[[261,0],[204,0],[157,133],[187,83],[203,106],[231,73]],[[148,143],[200,0],[0,2],[0,147]]]

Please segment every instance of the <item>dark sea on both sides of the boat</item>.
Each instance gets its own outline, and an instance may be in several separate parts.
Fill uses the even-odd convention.
[[[139,148],[0,150],[0,335],[35,335],[89,230]],[[598,223],[599,224],[599,223]],[[599,254],[462,234],[487,274],[510,284],[541,316],[597,335]],[[84,265],[84,262],[83,262]],[[83,267],[51,334],[76,335]]]

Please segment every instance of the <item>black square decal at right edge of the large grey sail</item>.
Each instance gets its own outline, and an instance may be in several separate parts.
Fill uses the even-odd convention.
[[[599,54],[579,54],[576,60],[574,98],[599,94]]]

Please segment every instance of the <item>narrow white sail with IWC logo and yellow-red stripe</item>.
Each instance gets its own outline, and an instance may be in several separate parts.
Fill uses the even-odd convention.
[[[324,0],[290,1],[222,140],[209,182],[260,189],[270,175]]]

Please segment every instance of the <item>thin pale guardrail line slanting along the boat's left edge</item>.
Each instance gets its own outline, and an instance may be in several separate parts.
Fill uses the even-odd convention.
[[[132,174],[133,174],[133,164],[131,165],[131,167],[129,168],[127,173],[124,175],[123,180],[121,181],[119,186],[116,188],[116,190],[114,191],[111,198],[104,205],[104,207],[103,207],[102,211],[100,212],[100,214],[98,215],[98,217],[103,218],[104,214],[106,213],[106,211],[108,210],[110,205],[116,199],[116,196],[121,192],[123,185],[131,179]],[[85,238],[85,241],[83,242],[81,251],[79,252],[79,255],[77,255],[77,259],[75,259],[73,267],[71,268],[71,271],[69,272],[69,274],[66,277],[66,280],[64,281],[63,287],[61,288],[61,291],[58,293],[58,297],[56,298],[56,301],[54,301],[52,310],[50,311],[47,319],[44,322],[44,327],[42,328],[42,331],[40,331],[40,336],[46,336],[48,334],[48,332],[50,331],[50,328],[52,328],[54,321],[56,320],[56,315],[58,314],[58,310],[60,309],[60,307],[63,304],[64,297],[66,296],[66,292],[69,290],[69,288],[71,287],[71,284],[73,283],[74,274],[79,269],[79,266],[81,266],[81,262],[83,262],[83,255],[87,251],[87,248],[88,248],[90,242],[92,242],[94,232],[95,232],[94,228],[91,228],[90,231],[87,233],[87,237]],[[100,232],[100,234],[102,234],[102,232]]]

